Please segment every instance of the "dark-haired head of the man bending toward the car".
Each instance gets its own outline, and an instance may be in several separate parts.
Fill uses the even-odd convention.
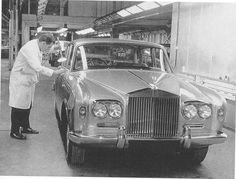
[[[52,45],[55,42],[55,39],[52,34],[41,34],[38,38],[39,40],[39,49],[45,54],[48,53]]]

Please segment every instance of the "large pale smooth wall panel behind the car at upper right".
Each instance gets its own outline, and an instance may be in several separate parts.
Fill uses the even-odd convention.
[[[173,10],[173,29],[177,39],[172,41],[171,56],[176,70],[212,78],[229,76],[236,81],[236,4],[180,3]],[[179,18],[176,18],[179,11]],[[177,43],[177,44],[176,44]]]

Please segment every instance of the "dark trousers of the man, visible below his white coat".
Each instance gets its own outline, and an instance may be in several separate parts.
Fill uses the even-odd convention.
[[[30,127],[29,115],[31,106],[29,109],[11,108],[11,132],[18,133],[20,127],[27,129]]]

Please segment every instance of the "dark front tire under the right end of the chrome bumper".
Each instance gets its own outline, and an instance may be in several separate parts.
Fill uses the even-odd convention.
[[[207,152],[208,146],[203,148],[189,149],[182,151],[181,157],[183,157],[187,163],[190,162],[190,164],[200,164],[206,158]]]

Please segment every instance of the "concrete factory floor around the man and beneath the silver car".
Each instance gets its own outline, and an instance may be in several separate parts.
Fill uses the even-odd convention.
[[[46,77],[37,85],[30,115],[32,128],[40,134],[27,135],[26,141],[11,139],[7,61],[2,60],[1,69],[0,176],[234,178],[235,134],[227,129],[226,143],[210,147],[197,167],[178,163],[172,156],[147,159],[145,154],[126,157],[113,152],[89,156],[82,168],[69,166],[53,112],[52,79]]]

